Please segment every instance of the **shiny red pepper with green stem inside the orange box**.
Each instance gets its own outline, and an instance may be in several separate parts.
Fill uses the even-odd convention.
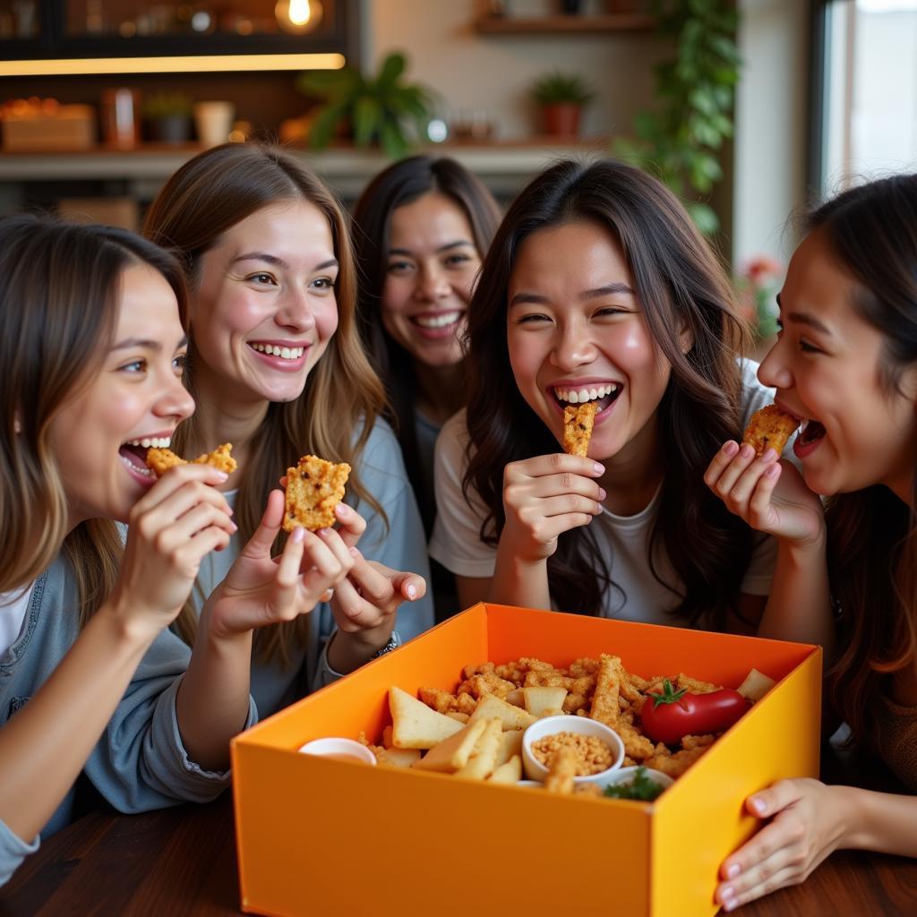
[[[678,745],[685,735],[722,733],[742,716],[750,704],[732,688],[709,694],[673,691],[662,682],[661,694],[647,694],[643,705],[643,731],[647,738],[666,745]]]

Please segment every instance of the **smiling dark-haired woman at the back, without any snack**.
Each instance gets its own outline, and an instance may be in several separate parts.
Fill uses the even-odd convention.
[[[455,160],[414,156],[381,171],[354,210],[360,332],[385,384],[389,419],[429,535],[433,451],[465,403],[461,337],[481,259],[500,222],[492,194]],[[458,610],[434,561],[436,617]]]

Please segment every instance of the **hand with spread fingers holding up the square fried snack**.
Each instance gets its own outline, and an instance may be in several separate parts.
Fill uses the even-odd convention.
[[[230,637],[255,627],[292,621],[315,608],[354,566],[350,543],[366,528],[350,507],[337,513],[340,532],[293,529],[282,554],[271,557],[271,546],[283,521],[283,493],[271,491],[258,530],[242,549],[226,579],[207,600],[211,634]],[[342,504],[343,505],[343,504]]]

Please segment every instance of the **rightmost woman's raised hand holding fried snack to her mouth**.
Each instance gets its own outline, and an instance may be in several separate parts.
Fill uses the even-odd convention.
[[[802,480],[799,469],[779,461],[773,449],[755,458],[755,450],[729,440],[704,472],[704,483],[759,532],[800,547],[824,540],[822,501]]]

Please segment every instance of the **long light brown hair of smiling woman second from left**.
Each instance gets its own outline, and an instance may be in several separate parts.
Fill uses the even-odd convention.
[[[289,403],[271,403],[263,421],[263,436],[251,443],[242,470],[235,519],[238,536],[246,541],[255,532],[264,501],[284,470],[307,452],[352,467],[348,490],[365,500],[384,518],[375,498],[359,475],[359,456],[385,403],[381,382],[363,351],[354,316],[356,271],[350,247],[348,220],[337,198],[313,172],[281,149],[258,144],[230,143],[207,149],[171,176],[149,208],[144,234],[162,245],[180,249],[189,285],[198,280],[200,259],[223,233],[247,216],[278,201],[304,200],[325,214],[340,265],[335,282],[337,332],[326,352],[309,373],[303,394]],[[192,341],[186,382],[194,392]],[[179,428],[176,448],[192,435],[194,418]],[[359,430],[355,436],[354,431]],[[189,602],[175,629],[189,643],[196,630],[196,614]],[[308,621],[260,628],[255,637],[262,659],[279,657],[289,662],[291,642],[302,642]]]

